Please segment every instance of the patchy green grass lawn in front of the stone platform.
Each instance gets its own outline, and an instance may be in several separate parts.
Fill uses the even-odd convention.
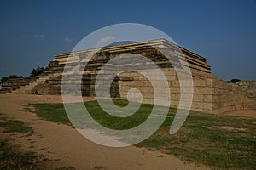
[[[127,101],[115,99],[116,105]],[[141,105],[125,118],[106,114],[96,101],[84,103],[90,115],[105,127],[129,129],[144,122],[152,105]],[[35,113],[46,120],[71,126],[62,104],[32,104]],[[165,122],[150,138],[136,144],[148,150],[160,150],[187,161],[220,169],[256,169],[256,119],[238,116],[211,115],[190,111],[183,127],[169,134],[176,109],[170,108]]]

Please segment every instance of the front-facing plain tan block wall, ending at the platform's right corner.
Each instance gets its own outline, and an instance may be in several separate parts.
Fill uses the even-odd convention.
[[[171,106],[176,108],[179,105],[184,106],[180,104],[181,88],[180,88],[180,82],[177,77],[176,71],[173,68],[162,69],[162,71],[166,76],[166,79],[168,81],[169,88],[171,91]],[[156,75],[156,74],[154,75],[156,79],[158,76],[159,75]],[[122,73],[119,75],[119,78],[120,78],[119,89],[120,89],[121,98],[126,98],[126,95],[131,88],[139,89],[139,91],[143,94],[143,103],[148,103],[148,104],[154,104],[154,93],[160,94],[162,96],[168,95],[163,90],[154,92],[154,89],[152,88],[152,85],[150,84],[150,82],[141,74],[138,74],[136,72]],[[179,78],[182,78],[182,77],[179,77]],[[191,110],[212,113],[212,94],[213,94],[212,79],[207,79],[207,78],[200,79],[200,78],[193,77],[193,83],[194,83],[194,87],[193,87],[193,98],[192,98]],[[160,84],[160,86],[163,86],[163,85]],[[188,94],[189,89],[184,87],[182,93],[185,95]],[[136,96],[138,94],[134,94],[134,95]],[[161,101],[161,102],[164,102],[164,101]],[[184,100],[184,102],[186,102],[186,99]]]

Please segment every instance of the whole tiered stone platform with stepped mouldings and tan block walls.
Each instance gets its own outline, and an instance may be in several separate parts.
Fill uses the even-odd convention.
[[[170,62],[157,48],[171,51],[177,59],[172,59],[172,62]],[[91,56],[90,61],[84,68],[84,57],[95,50],[99,51]],[[186,59],[189,63],[194,83],[191,110],[207,113],[222,113],[241,109],[256,109],[256,82],[238,82],[236,84],[223,82],[211,74],[211,67],[207,65],[205,58],[185,48],[178,47],[165,39],[151,40],[148,42],[132,42],[104,48],[55,54],[55,59],[49,62],[49,70],[40,75],[37,81],[26,86],[26,90],[20,88],[19,93],[61,94],[62,72],[69,57],[69,63],[80,65],[76,69],[83,75],[82,94],[84,96],[95,96],[95,81],[98,72],[110,59],[121,54],[139,54],[151,59],[160,67],[166,76],[171,90],[172,107],[179,105],[181,94],[179,79],[183,79],[187,75],[183,72],[182,77],[177,77],[177,69],[186,66],[183,65],[183,60]],[[144,65],[146,64],[137,61],[137,67],[150,71],[155,81],[157,81],[160,75],[157,75],[154,69],[148,69],[149,67],[144,67]],[[180,69],[180,71],[183,70]],[[76,77],[71,77],[70,81],[65,83],[73,83],[74,81],[80,80]],[[159,86],[162,86],[160,82]],[[153,104],[154,93],[166,95],[164,91],[154,92],[148,79],[135,71],[125,71],[118,74],[112,82],[110,94],[115,98],[126,98],[127,92],[131,88],[140,90],[143,94],[143,103]],[[183,93],[188,93],[186,92],[186,88],[183,88],[183,91]]]

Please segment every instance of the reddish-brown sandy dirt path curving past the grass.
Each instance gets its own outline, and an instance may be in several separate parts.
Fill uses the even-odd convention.
[[[34,130],[32,136],[15,134],[11,136],[22,150],[36,151],[49,159],[51,166],[73,166],[77,169],[207,169],[192,163],[186,163],[175,156],[149,151],[133,146],[109,148],[90,142],[75,129],[66,125],[48,122],[34,113],[22,111],[27,103],[61,103],[61,96],[0,94],[0,113],[28,123]],[[3,135],[3,134],[2,134]],[[4,135],[7,135],[6,133]],[[162,155],[163,157],[158,157]],[[49,168],[53,168],[49,167]]]

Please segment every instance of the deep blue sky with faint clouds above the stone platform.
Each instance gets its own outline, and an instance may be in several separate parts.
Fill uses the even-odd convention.
[[[104,26],[140,23],[207,58],[224,80],[256,80],[256,1],[1,1],[0,77],[28,76]]]

